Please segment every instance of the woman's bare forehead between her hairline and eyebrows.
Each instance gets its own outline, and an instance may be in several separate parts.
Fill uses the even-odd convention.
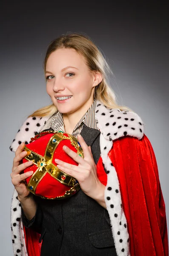
[[[85,67],[86,63],[83,56],[81,56],[75,49],[57,49],[49,55],[46,62],[46,70],[55,69],[62,70],[66,66]],[[87,67],[87,66],[86,66]]]

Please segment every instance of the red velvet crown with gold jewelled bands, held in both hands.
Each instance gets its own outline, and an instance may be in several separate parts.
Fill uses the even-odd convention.
[[[32,166],[29,166],[28,168],[26,168],[24,170],[24,172],[33,171],[34,172],[33,175],[35,175],[35,172],[36,172],[36,175],[38,175],[38,177],[40,177],[38,179],[34,178],[35,181],[37,179],[35,190],[32,189],[32,187],[35,188],[35,186],[31,186],[31,183],[29,183],[29,181],[31,179],[33,180],[33,177],[37,177],[37,176],[28,177],[26,179],[26,183],[28,184],[27,187],[28,187],[30,192],[34,193],[34,195],[37,195],[37,196],[40,196],[40,197],[43,197],[43,198],[49,198],[49,199],[62,199],[63,196],[65,195],[66,191],[70,190],[74,186],[73,185],[68,186],[68,185],[64,184],[64,181],[66,180],[66,175],[64,175],[64,174],[60,175],[60,178],[61,178],[61,182],[60,182],[60,180],[57,180],[56,178],[54,178],[54,176],[52,176],[50,174],[50,172],[45,171],[46,166],[44,164],[49,163],[48,161],[47,162],[44,161],[46,148],[47,147],[49,148],[49,145],[48,145],[49,140],[52,141],[53,140],[52,136],[56,135],[56,133],[50,132],[50,133],[46,133],[45,135],[43,135],[43,134],[44,133],[40,133],[41,137],[38,134],[37,136],[35,136],[35,138],[32,138],[33,141],[31,143],[27,144],[25,146],[25,148],[23,148],[23,151],[26,150],[26,148],[27,148],[27,151],[28,151],[28,149],[30,149],[30,151],[32,151],[34,153],[37,153],[37,156],[40,155],[41,157],[43,157],[43,161],[41,163],[38,163],[38,166],[35,163],[33,163]],[[57,133],[57,134],[61,135],[61,133]],[[66,137],[69,136],[69,134],[63,134],[63,135],[65,135]],[[76,142],[77,142],[77,140],[76,140]],[[52,147],[56,146],[56,143],[53,143]],[[72,157],[70,157],[68,154],[66,154],[66,152],[63,150],[63,145],[68,146],[72,151],[77,153],[77,149],[71,144],[71,141],[67,140],[67,139],[63,139],[58,143],[57,147],[53,151],[53,157],[51,159],[51,163],[56,167],[57,163],[55,163],[54,159],[57,158],[57,159],[60,159],[64,162],[66,162],[66,163],[71,163],[73,165],[78,166],[78,163],[76,161],[74,161],[72,159]],[[78,144],[77,144],[77,146],[78,146]],[[81,148],[81,150],[82,150],[82,148]],[[23,158],[23,163],[28,161],[28,157],[30,156],[30,154],[31,154],[31,152],[28,152],[27,156]],[[29,159],[29,160],[32,160],[32,159]],[[40,166],[40,164],[43,165],[44,167]],[[43,168],[43,173],[45,172],[44,175],[42,175],[42,171],[41,171],[42,168]],[[59,171],[59,170],[57,169],[57,171]],[[78,181],[75,180],[75,182],[76,182],[76,188],[77,189],[75,189],[73,194],[76,193],[80,189]],[[35,182],[34,182],[34,184],[35,184]],[[69,195],[69,196],[71,196],[71,195]]]

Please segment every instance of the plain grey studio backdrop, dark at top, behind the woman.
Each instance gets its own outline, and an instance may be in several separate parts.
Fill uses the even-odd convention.
[[[49,105],[42,63],[49,42],[67,32],[83,32],[92,38],[115,74],[110,81],[118,103],[129,106],[142,118],[144,133],[155,151],[168,220],[167,6],[154,1],[152,5],[137,2],[136,6],[105,1],[82,6],[50,1],[44,5],[24,2],[24,6],[6,1],[2,5],[0,255],[12,255],[10,204],[14,187],[10,173],[14,153],[9,146],[26,116]]]

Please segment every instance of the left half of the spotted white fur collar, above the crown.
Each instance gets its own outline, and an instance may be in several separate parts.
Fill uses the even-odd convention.
[[[40,129],[46,124],[49,118],[50,116],[28,117],[17,131],[17,134],[9,147],[10,150],[15,152],[22,142],[28,144],[30,139],[39,133]]]

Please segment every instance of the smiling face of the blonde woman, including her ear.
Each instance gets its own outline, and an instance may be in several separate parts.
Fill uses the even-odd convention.
[[[100,76],[100,73],[89,71],[74,49],[57,49],[49,55],[46,63],[46,90],[58,111],[73,113],[86,104],[92,104],[94,87],[99,84]],[[62,96],[71,98],[57,99]]]

